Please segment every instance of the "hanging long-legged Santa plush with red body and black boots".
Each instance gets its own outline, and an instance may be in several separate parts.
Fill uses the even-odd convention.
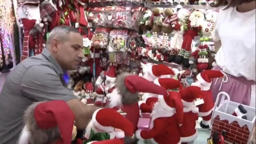
[[[180,50],[178,56],[175,59],[177,64],[182,64],[185,67],[189,67],[189,57],[191,52],[191,44],[194,37],[198,36],[198,32],[201,31],[201,24],[204,20],[204,13],[196,10],[189,16],[188,30],[184,33],[184,39],[182,43],[182,50]]]

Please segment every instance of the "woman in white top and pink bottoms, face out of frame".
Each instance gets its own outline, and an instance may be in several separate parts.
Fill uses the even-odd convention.
[[[225,78],[215,79],[211,90],[215,100],[224,91],[231,101],[250,105],[256,81],[256,1],[217,0],[217,6],[224,8],[213,33],[213,39],[221,43],[213,70],[223,71]]]

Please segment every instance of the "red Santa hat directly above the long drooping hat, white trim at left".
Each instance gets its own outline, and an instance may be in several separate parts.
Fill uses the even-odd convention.
[[[179,88],[180,90],[183,89],[183,85],[180,81],[171,78],[158,78],[154,81],[156,85],[164,87],[165,89],[176,89]]]

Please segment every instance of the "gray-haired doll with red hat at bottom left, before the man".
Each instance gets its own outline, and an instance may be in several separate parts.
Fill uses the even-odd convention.
[[[72,140],[75,116],[65,101],[35,103],[28,107],[24,119],[25,127],[18,144],[43,144],[49,140],[56,141],[55,144],[70,144]],[[49,137],[41,138],[49,133]],[[56,135],[52,136],[52,133]],[[50,137],[52,140],[48,139]],[[59,137],[61,139],[54,139]]]

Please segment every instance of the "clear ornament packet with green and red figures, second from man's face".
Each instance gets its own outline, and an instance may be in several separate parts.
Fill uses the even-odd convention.
[[[109,52],[126,52],[128,30],[112,30],[109,37]]]

